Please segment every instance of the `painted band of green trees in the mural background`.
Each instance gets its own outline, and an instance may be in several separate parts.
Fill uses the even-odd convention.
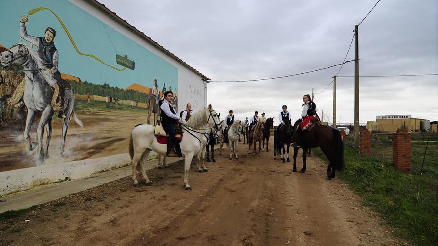
[[[141,93],[136,90],[124,90],[118,87],[111,87],[108,83],[93,84],[87,81],[76,82],[74,80],[67,80],[72,85],[76,94],[97,96],[112,96],[112,98],[118,98],[120,100],[132,100],[142,103],[147,103],[149,96],[146,93]]]

